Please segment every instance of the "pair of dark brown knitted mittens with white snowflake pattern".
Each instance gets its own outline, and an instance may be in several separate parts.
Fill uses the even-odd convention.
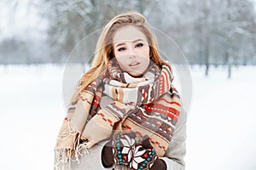
[[[135,141],[135,137],[135,133],[117,133],[102,149],[103,166],[119,164],[132,170],[165,170],[166,163],[159,159],[148,136],[143,141]]]

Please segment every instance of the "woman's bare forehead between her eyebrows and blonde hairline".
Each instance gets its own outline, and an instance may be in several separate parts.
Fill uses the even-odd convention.
[[[118,31],[115,32],[113,35],[113,43],[117,42],[127,42],[127,41],[134,41],[137,39],[142,39],[143,41],[147,42],[147,37],[143,34],[142,31],[139,31],[134,26],[125,26],[119,28]]]

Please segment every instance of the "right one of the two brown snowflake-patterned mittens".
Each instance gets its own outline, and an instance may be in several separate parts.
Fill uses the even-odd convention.
[[[166,162],[159,159],[146,135],[143,142],[137,141],[130,167],[136,170],[166,170]]]

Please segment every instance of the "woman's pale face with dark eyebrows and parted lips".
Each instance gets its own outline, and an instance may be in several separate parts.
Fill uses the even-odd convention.
[[[125,26],[115,32],[113,53],[121,69],[133,77],[143,76],[148,69],[147,37],[134,26]]]

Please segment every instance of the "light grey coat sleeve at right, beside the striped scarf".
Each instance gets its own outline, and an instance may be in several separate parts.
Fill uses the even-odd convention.
[[[166,150],[166,154],[160,157],[166,162],[167,170],[184,170],[184,156],[186,154],[186,120],[187,114],[181,109],[181,114],[177,121],[176,130],[173,133],[172,141]]]

